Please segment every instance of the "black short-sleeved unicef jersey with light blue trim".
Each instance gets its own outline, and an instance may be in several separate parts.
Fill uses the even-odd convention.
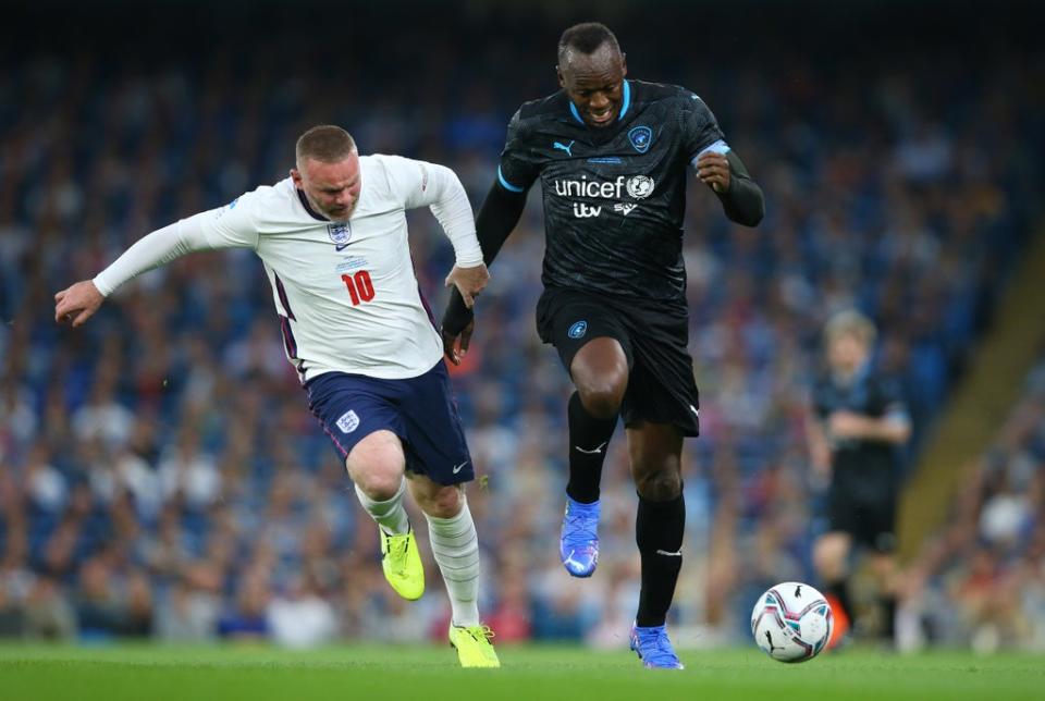
[[[541,180],[544,285],[685,304],[686,182],[706,149],[728,150],[714,114],[674,85],[625,81],[603,128],[562,90],[522,104],[497,177],[519,193]]]

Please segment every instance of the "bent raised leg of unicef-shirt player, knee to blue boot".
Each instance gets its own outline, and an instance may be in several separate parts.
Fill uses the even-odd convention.
[[[560,558],[574,577],[599,564],[599,483],[617,414],[628,389],[628,359],[608,336],[592,339],[570,362],[577,391],[569,397],[569,482]]]

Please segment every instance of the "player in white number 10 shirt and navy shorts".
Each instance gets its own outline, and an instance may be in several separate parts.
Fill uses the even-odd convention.
[[[54,315],[78,327],[147,270],[194,250],[251,248],[265,263],[309,408],[378,524],[386,579],[405,599],[425,590],[403,507],[409,484],[450,594],[458,660],[496,667],[492,632],[479,619],[479,543],[464,492],[475,470],[407,245],[406,210],[426,206],[456,254],[446,284],[470,306],[489,274],[454,172],[397,156],[360,157],[347,132],[320,125],[297,140],[291,177],[148,234],[94,280],[54,295]]]

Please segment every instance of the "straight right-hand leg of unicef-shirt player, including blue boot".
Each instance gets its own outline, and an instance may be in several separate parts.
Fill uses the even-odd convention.
[[[628,453],[639,493],[635,539],[642,558],[642,587],[631,649],[647,667],[681,669],[665,623],[683,567],[683,433],[671,423],[628,427]]]

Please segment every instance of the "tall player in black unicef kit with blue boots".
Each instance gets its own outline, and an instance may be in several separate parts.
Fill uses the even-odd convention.
[[[683,438],[698,433],[681,255],[687,179],[693,171],[726,216],[748,226],[762,219],[762,192],[697,95],[626,79],[625,57],[604,25],[568,28],[557,72],[562,89],[512,118],[476,227],[489,265],[540,179],[545,255],[538,331],[577,389],[567,408],[561,557],[575,577],[595,569],[599,482],[619,416],[639,494],[642,581],[631,649],[647,667],[680,669],[665,619],[681,568]],[[467,350],[472,323],[452,294],[443,317],[451,361]]]

